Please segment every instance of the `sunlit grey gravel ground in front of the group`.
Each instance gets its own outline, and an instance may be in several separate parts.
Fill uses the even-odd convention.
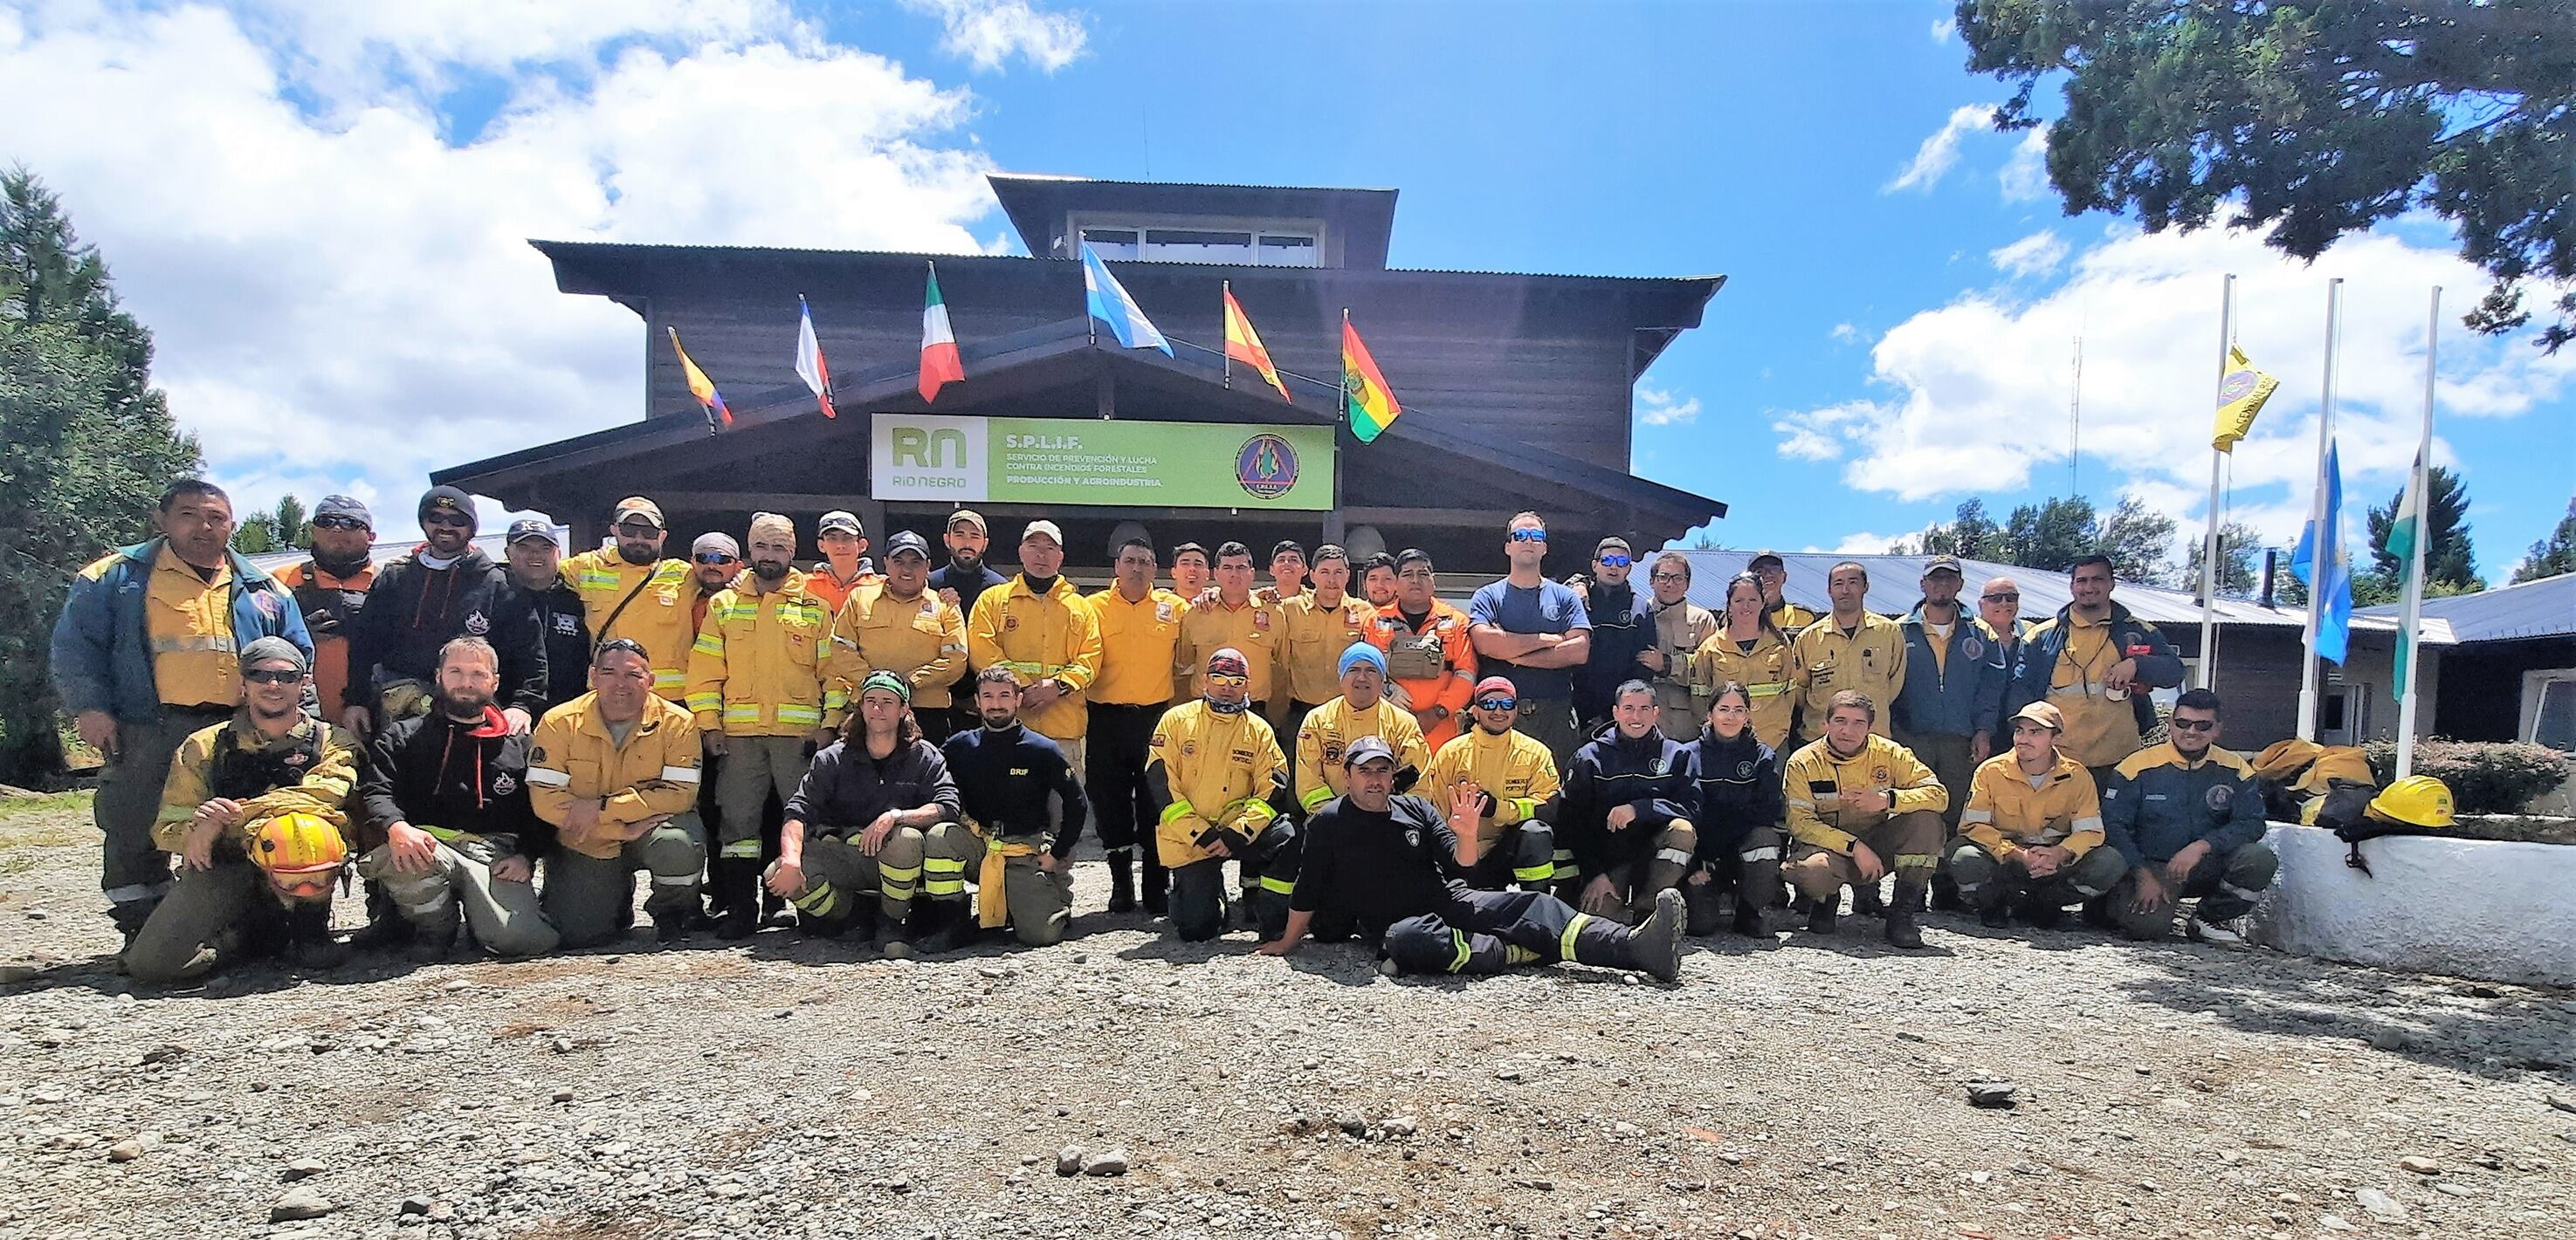
[[[2566,1235],[2576,996],[1932,916],[1680,985],[1388,980],[1097,913],[134,996],[0,810],[8,1237]],[[343,903],[343,918],[350,906]],[[2009,1078],[2012,1109],[1968,1083]],[[1113,1173],[1113,1160],[1123,1171]],[[1064,1158],[1059,1173],[1059,1158]],[[1090,1163],[1090,1173],[1082,1165]],[[325,1209],[270,1222],[278,1209]]]

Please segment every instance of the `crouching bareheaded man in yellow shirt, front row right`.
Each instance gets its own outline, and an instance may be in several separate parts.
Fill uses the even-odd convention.
[[[1878,890],[1893,870],[1888,942],[1922,947],[1914,913],[1940,867],[1940,810],[1950,790],[1906,746],[1873,736],[1875,723],[1878,702],[1842,689],[1826,702],[1824,738],[1788,759],[1780,782],[1795,844],[1780,877],[1816,903],[1806,929],[1834,934],[1842,888]]]

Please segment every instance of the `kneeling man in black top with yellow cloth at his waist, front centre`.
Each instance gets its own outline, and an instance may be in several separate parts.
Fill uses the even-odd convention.
[[[945,888],[976,875],[976,918],[948,913],[933,952],[1010,926],[1025,947],[1064,942],[1074,921],[1074,841],[1082,839],[1082,785],[1064,749],[1020,725],[1020,682],[1002,666],[974,679],[981,725],[948,738],[948,772],[966,808],[963,826],[935,826],[922,882]],[[956,864],[958,870],[948,870]],[[933,890],[943,900],[945,890]]]

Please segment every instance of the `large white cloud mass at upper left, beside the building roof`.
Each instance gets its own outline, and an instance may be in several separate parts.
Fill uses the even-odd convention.
[[[0,10],[0,80],[49,100],[0,108],[0,152],[100,244],[245,507],[371,494],[399,533],[428,468],[634,419],[636,316],[528,237],[979,250],[974,98],[773,5],[430,13]],[[451,136],[420,82],[466,72],[500,103]]]

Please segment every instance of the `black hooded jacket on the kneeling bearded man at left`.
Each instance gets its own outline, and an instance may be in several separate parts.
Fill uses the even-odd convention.
[[[528,857],[554,846],[554,828],[528,808],[528,736],[513,736],[497,707],[477,723],[430,710],[379,728],[366,746],[358,803],[361,852],[384,844],[394,823],[466,831]]]

